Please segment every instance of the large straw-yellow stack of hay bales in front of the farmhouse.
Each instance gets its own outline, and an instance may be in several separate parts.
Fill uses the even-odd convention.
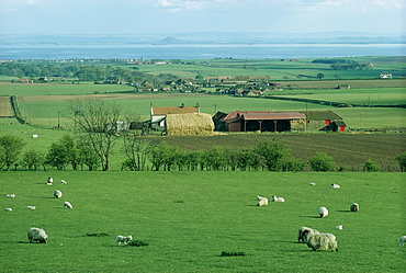
[[[168,114],[166,117],[168,136],[208,136],[214,123],[210,114]]]

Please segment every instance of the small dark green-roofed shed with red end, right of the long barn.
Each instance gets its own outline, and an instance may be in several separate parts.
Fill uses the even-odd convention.
[[[342,117],[332,111],[305,111],[306,130],[346,132],[347,125]]]

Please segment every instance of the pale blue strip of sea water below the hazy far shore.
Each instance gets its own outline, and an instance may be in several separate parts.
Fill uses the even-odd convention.
[[[406,56],[406,44],[0,45],[1,60],[278,59],[358,56]]]

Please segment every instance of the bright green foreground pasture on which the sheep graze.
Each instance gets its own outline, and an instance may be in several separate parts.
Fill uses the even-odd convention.
[[[47,177],[54,185],[46,185]],[[404,179],[404,173],[1,172],[1,271],[404,272],[406,248],[397,239],[406,232]],[[61,198],[53,197],[55,190]],[[12,193],[15,198],[5,197]],[[285,203],[257,207],[257,195],[282,196]],[[63,208],[65,201],[74,209]],[[353,202],[359,213],[349,212]],[[326,218],[318,217],[320,206],[329,209]],[[338,225],[343,229],[335,229]],[[315,252],[298,243],[301,226],[334,234],[339,251]],[[44,228],[48,243],[30,243],[30,227]],[[117,235],[148,246],[117,247]],[[221,257],[223,251],[245,255]]]

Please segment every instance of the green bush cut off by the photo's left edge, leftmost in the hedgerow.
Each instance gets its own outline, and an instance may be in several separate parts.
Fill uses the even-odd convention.
[[[13,163],[19,160],[25,143],[21,137],[4,135],[0,137],[0,170],[4,168],[10,171]]]

